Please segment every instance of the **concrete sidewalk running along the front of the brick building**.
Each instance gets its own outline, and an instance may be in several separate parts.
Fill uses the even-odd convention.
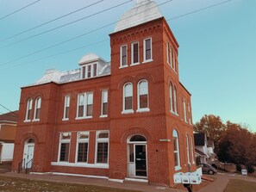
[[[117,188],[117,189],[130,189],[147,192],[184,192],[184,190],[170,189],[167,187],[159,187],[148,185],[147,183],[116,183],[108,179],[89,178],[89,177],[74,177],[74,176],[59,176],[53,174],[19,174],[13,172],[0,173],[3,177],[20,177],[26,179],[56,182],[56,183],[76,183],[85,185],[97,185],[102,187]]]

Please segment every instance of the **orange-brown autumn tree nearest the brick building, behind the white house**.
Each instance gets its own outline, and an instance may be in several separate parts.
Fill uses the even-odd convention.
[[[194,125],[194,131],[197,133],[206,133],[209,139],[215,144],[215,152],[218,152],[219,142],[226,130],[222,119],[215,115],[204,115],[199,122]]]

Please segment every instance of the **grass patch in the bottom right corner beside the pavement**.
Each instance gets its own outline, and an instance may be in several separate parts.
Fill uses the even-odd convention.
[[[256,183],[239,179],[231,179],[224,192],[249,192],[256,191]]]

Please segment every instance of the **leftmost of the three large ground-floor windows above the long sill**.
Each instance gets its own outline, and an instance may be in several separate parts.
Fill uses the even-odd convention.
[[[60,133],[59,161],[68,162],[71,133]]]

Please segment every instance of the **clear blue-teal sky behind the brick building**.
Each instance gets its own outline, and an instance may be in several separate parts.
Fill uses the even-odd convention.
[[[115,24],[110,24],[117,22],[135,2],[35,1],[0,0],[0,104],[11,110],[19,108],[20,88],[33,84],[47,69],[77,69],[78,60],[86,53],[97,53],[109,61],[109,34],[115,28]],[[193,121],[205,114],[219,115],[224,122],[243,123],[256,132],[256,1],[166,1],[155,0],[180,46],[180,82],[192,95]],[[30,3],[34,4],[9,15]],[[95,4],[90,8],[34,28],[92,3]],[[124,4],[109,9],[121,3]],[[216,3],[222,4],[203,9]],[[203,10],[195,12],[198,9]],[[195,13],[185,15],[190,12]],[[179,15],[184,16],[173,19]],[[80,22],[58,28],[86,16]],[[29,28],[34,30],[19,34]],[[45,33],[52,28],[57,29]],[[55,46],[66,40],[69,41]],[[0,113],[6,112],[0,107]]]

